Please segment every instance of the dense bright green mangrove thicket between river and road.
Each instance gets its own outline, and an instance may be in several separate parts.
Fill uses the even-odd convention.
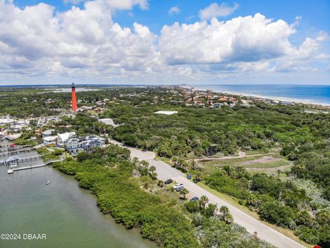
[[[126,228],[140,227],[144,238],[162,247],[199,247],[189,221],[158,196],[144,192],[131,178],[134,165],[128,149],[118,145],[91,149],[79,154],[77,161],[54,163],[54,167],[76,175],[80,187],[96,194],[103,214],[111,214]],[[104,167],[109,164],[116,166]]]

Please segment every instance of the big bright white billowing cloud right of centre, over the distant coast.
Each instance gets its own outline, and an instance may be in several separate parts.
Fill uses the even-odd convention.
[[[210,24],[165,25],[159,45],[164,59],[173,65],[259,61],[293,50],[288,37],[294,32],[285,21],[272,22],[255,14],[225,22],[212,19]]]

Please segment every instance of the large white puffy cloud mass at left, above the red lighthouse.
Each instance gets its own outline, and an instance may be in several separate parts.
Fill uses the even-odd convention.
[[[145,1],[119,2],[88,1],[83,9],[72,7],[59,13],[44,3],[23,10],[0,3],[0,54],[7,58],[3,63],[12,68],[26,60],[43,61],[41,65],[50,63],[50,68],[56,64],[100,71],[148,64],[154,56],[155,36],[138,23],[132,32],[111,19],[115,8],[144,6]]]

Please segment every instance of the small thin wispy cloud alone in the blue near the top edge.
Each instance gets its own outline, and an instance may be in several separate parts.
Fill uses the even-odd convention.
[[[234,6],[228,6],[227,3],[211,3],[210,6],[199,10],[199,17],[202,20],[212,19],[213,17],[226,17],[239,8],[239,4],[234,3]]]

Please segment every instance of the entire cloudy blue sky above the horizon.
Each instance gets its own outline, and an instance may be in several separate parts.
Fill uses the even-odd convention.
[[[0,85],[330,85],[330,1],[0,0]]]

